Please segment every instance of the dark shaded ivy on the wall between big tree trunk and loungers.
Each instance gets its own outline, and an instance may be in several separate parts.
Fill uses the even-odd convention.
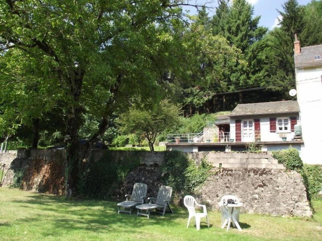
[[[129,152],[124,159],[115,160],[109,153],[101,160],[91,162],[80,181],[80,192],[89,198],[110,198],[111,192],[125,181],[128,173],[140,164],[137,153]]]

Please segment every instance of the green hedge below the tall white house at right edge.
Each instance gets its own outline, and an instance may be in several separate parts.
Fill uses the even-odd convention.
[[[304,171],[308,177],[308,190],[312,199],[322,199],[322,166],[304,164]]]

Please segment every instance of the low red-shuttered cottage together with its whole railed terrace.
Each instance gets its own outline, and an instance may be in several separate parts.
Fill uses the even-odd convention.
[[[238,104],[219,116],[203,133],[168,135],[167,149],[181,151],[244,151],[257,143],[262,151],[294,148],[301,150],[301,137],[295,137],[299,121],[297,101]]]

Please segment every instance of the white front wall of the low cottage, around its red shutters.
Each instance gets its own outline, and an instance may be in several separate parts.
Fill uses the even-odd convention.
[[[294,138],[294,132],[291,132],[291,123],[290,117],[296,116],[297,120],[299,120],[298,113],[287,113],[287,114],[271,114],[271,115],[256,115],[256,116],[241,116],[241,117],[231,117],[230,118],[230,132],[231,132],[231,139],[236,141],[236,133],[235,133],[235,121],[242,120],[242,142],[245,140],[243,139],[243,121],[253,121],[253,130],[254,126],[254,119],[260,119],[260,140],[261,141],[282,141],[282,137],[286,137],[287,141],[290,141]],[[278,119],[289,119],[288,130],[280,131],[278,128],[278,121],[276,120],[276,132],[270,132],[270,118]],[[254,135],[253,135],[254,137]],[[252,141],[255,141],[255,137]]]

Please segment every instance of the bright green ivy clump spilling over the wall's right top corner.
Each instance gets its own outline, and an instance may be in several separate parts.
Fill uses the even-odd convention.
[[[303,162],[295,148],[283,149],[272,152],[273,157],[283,164],[288,170],[300,171],[303,169]]]

